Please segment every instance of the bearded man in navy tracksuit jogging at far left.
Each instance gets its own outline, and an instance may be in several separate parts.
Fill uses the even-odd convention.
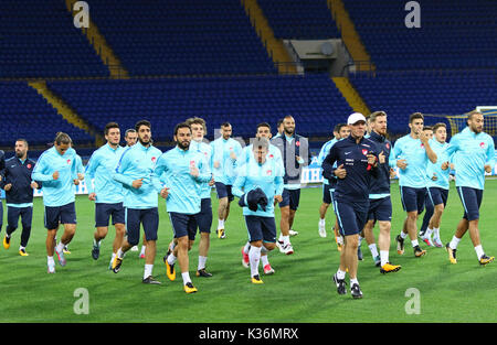
[[[28,256],[25,247],[31,235],[33,219],[33,190],[40,188],[41,183],[32,181],[35,162],[28,158],[28,141],[15,141],[15,155],[6,161],[3,179],[0,187],[6,191],[7,228],[3,247],[9,249],[12,233],[18,228],[19,217],[22,224],[20,256]]]

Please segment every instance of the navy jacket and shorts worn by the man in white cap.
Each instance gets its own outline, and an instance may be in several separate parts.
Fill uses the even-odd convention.
[[[322,176],[332,179],[335,170],[343,164],[347,171],[345,179],[337,179],[335,187],[335,208],[340,233],[343,236],[359,234],[368,218],[369,190],[371,177],[378,175],[378,164],[369,166],[367,155],[377,157],[377,145],[362,138],[359,143],[352,136],[337,141],[322,162]]]

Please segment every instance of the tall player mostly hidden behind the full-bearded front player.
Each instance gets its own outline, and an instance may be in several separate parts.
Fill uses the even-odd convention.
[[[191,142],[190,150],[192,152],[200,153],[208,163],[210,170],[212,160],[212,148],[210,144],[203,142],[203,137],[207,134],[205,121],[201,118],[190,118],[187,125],[191,128]],[[209,181],[202,184],[200,198],[200,213],[194,217],[195,229],[199,228],[200,242],[199,242],[199,265],[197,267],[197,277],[212,277],[212,273],[205,270],[205,265],[209,255],[209,248],[211,244],[211,226],[212,226],[212,202],[211,202],[211,187],[213,181]]]

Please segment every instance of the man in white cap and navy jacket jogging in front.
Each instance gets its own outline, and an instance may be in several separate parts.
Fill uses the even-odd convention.
[[[350,136],[334,144],[322,162],[322,176],[338,177],[335,188],[335,211],[341,235],[345,237],[340,252],[340,266],[334,281],[339,294],[346,294],[346,271],[350,276],[351,295],[362,298],[357,279],[359,233],[364,227],[369,211],[369,186],[372,175],[378,174],[376,144],[364,138],[366,118],[353,112],[347,119]],[[338,168],[332,168],[337,162]]]

